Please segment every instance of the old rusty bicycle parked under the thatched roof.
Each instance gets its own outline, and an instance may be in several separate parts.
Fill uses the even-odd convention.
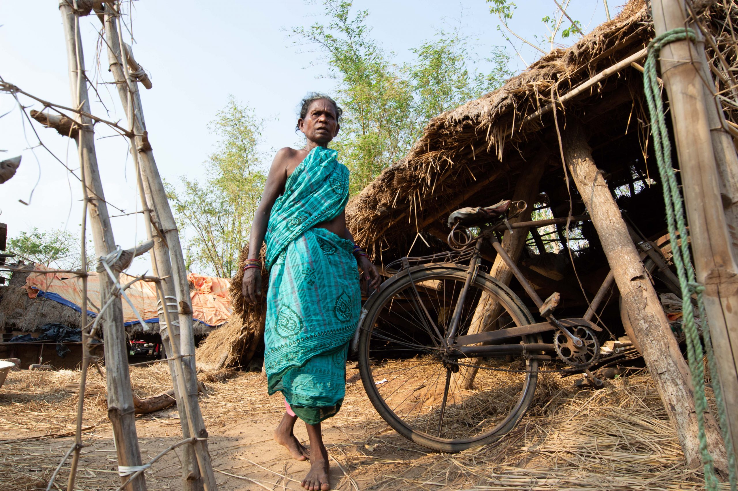
[[[584,317],[556,318],[559,294],[539,298],[495,233],[567,219],[510,224],[508,219],[525,207],[525,202],[507,200],[451,213],[452,251],[389,264],[385,269],[397,267],[396,274],[362,307],[352,347],[358,350],[365,391],[382,419],[413,442],[444,452],[496,442],[531,405],[542,363],[560,360],[570,370],[593,377],[588,368],[598,360],[596,333],[602,329],[592,318],[613,284],[612,272]],[[480,231],[474,236],[468,227]],[[668,258],[629,228],[649,273],[658,273],[667,289],[678,292]],[[545,322],[534,320],[508,286],[480,269],[485,241],[511,269]],[[468,265],[462,264],[467,260]],[[471,326],[475,328],[469,334]],[[544,343],[542,334],[551,332],[553,342]],[[461,370],[476,371],[474,388],[454,385]]]

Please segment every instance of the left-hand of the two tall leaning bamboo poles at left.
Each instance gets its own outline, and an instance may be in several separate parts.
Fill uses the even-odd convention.
[[[72,103],[81,111],[89,114],[90,105],[87,95],[87,82],[84,75],[85,65],[82,42],[79,30],[79,17],[75,8],[67,0],[59,4],[64,35],[66,38],[67,61],[69,64],[69,85],[72,89]],[[97,168],[97,155],[94,148],[94,130],[92,119],[77,114],[80,131],[77,135],[77,146],[80,150],[80,166],[84,168],[88,194],[95,196],[89,199],[90,222],[95,251],[98,255],[107,255],[116,250],[113,231],[108,217],[108,207],[104,201],[103,184]],[[108,275],[100,275],[100,300],[108,298],[114,288]],[[125,344],[123,329],[123,307],[120,297],[114,299],[104,312],[100,312],[106,354],[106,378],[108,388],[108,418],[113,426],[113,436],[117,450],[118,465],[137,467],[141,465],[141,454],[138,446],[136,423],[134,419],[133,392],[131,378],[128,374],[128,350]],[[124,481],[125,478],[122,478]],[[144,491],[146,483],[143,475],[131,479],[128,491]]]

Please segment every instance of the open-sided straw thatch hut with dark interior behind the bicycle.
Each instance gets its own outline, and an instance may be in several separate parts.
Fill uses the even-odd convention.
[[[725,4],[735,23],[737,9]],[[725,58],[736,64],[735,47],[721,34],[723,4],[711,9],[703,14],[703,24]],[[629,223],[644,236],[658,238],[666,223],[639,71],[653,36],[646,4],[631,0],[572,47],[554,49],[500,89],[432,118],[407,157],[384,169],[349,202],[348,227],[357,243],[382,265],[404,255],[447,250],[446,218],[460,207],[525,199],[528,213],[534,205],[554,218],[584,213],[582,196],[570,174],[565,177],[559,146],[561,134],[573,125],[587,130],[593,159]],[[556,111],[552,100],[559,100]],[[571,254],[565,227],[555,225],[531,230],[517,258],[542,298],[561,292],[562,315],[579,317],[610,267],[592,224],[579,222],[572,228],[570,234],[579,240]],[[493,255],[486,251],[488,270]],[[248,320],[234,329],[234,343],[263,332],[263,307],[245,307],[240,284],[240,277],[232,281],[232,306]],[[525,298],[514,281],[511,287]],[[621,329],[617,291],[611,293],[601,319]],[[253,350],[240,346],[235,351]]]

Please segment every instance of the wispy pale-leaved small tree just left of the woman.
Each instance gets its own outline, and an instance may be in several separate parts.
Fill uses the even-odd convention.
[[[210,123],[220,140],[204,162],[207,179],[201,183],[182,176],[179,188],[167,184],[180,230],[193,233],[187,267],[221,278],[235,272],[266,182],[258,148],[263,123],[253,109],[230,97]]]

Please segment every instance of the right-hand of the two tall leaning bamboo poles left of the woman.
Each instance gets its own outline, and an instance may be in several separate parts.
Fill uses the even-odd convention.
[[[167,298],[176,299],[179,306],[177,313],[179,320],[169,322],[165,320],[166,329],[162,329],[162,340],[168,338],[168,351],[171,354],[182,354],[182,358],[171,360],[170,371],[175,382],[176,399],[179,411],[186,411],[187,418],[181,419],[184,438],[196,436],[198,439],[192,445],[185,447],[182,479],[186,489],[215,490],[215,475],[213,473],[210,454],[207,450],[207,430],[202,420],[199,403],[198,388],[195,370],[195,341],[192,329],[192,307],[190,304],[190,287],[187,283],[187,271],[184,267],[184,258],[179,244],[179,232],[171,213],[169,203],[159,171],[156,168],[154,153],[148,142],[148,133],[145,127],[142,104],[139,97],[136,80],[131,77],[128,67],[122,62],[121,49],[122,32],[117,22],[118,14],[105,7],[103,10],[106,27],[106,44],[110,69],[117,82],[119,95],[126,108],[128,121],[132,126],[132,133],[136,134],[131,153],[134,162],[140,162],[142,201],[145,210],[152,210],[148,218],[154,224],[159,236],[155,241],[154,268],[162,281],[162,309],[165,318],[168,318],[169,308]],[[179,366],[182,370],[179,370]],[[179,379],[184,378],[183,383]]]

